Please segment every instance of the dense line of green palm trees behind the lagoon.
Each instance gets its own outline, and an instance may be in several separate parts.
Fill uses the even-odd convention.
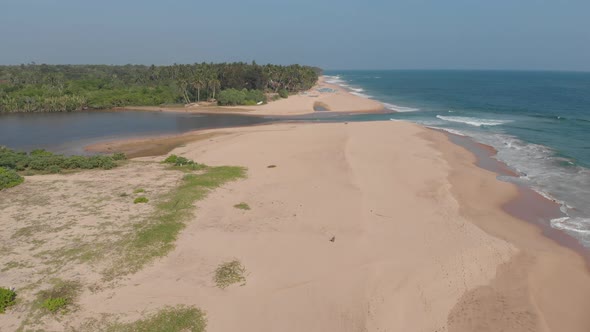
[[[69,112],[216,100],[311,88],[319,68],[236,63],[0,66],[0,112]],[[255,90],[255,92],[252,92]],[[235,93],[234,93],[235,94]],[[259,100],[249,100],[259,101]]]

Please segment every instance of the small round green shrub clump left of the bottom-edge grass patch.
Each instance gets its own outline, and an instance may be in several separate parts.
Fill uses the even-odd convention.
[[[50,289],[37,294],[37,304],[51,313],[66,313],[74,304],[81,285],[75,281],[52,280]]]

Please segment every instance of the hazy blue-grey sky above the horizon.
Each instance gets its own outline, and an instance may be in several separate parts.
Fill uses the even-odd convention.
[[[590,70],[590,0],[0,0],[0,64]]]

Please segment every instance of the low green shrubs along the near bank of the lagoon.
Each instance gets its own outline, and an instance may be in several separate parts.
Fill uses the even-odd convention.
[[[26,153],[0,147],[0,167],[15,171],[59,173],[71,169],[111,169],[117,165],[112,156],[63,156],[43,149]]]

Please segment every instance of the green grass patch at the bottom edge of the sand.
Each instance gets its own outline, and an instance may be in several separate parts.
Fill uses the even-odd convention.
[[[204,332],[205,313],[189,306],[166,307],[154,315],[132,323],[115,323],[107,332]]]

